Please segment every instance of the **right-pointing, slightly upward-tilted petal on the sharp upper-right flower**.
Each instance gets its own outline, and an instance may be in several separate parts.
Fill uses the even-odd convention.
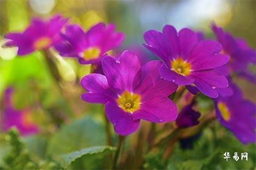
[[[192,70],[207,70],[207,69],[214,69],[215,67],[223,66],[229,61],[228,55],[212,55],[212,56],[205,56],[204,58],[197,58],[194,60],[192,65]]]

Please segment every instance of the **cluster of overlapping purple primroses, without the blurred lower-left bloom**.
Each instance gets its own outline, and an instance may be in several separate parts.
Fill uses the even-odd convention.
[[[170,95],[184,86],[191,94],[212,98],[216,117],[242,143],[255,142],[255,104],[243,98],[232,77],[255,83],[248,66],[255,64],[256,52],[215,24],[212,30],[217,41],[187,28],[178,32],[172,25],[165,25],[162,32],[148,30],[143,45],[159,60],[146,64],[130,50],[111,56],[110,51],[124,41],[124,33],[116,32],[114,24],[99,23],[84,31],[61,16],[34,19],[23,33],[5,35],[10,39],[5,45],[18,47],[18,55],[54,47],[62,56],[96,66],[100,73],[94,70],[80,81],[87,90],[82,99],[105,104],[105,115],[119,135],[135,132],[140,120],[176,121],[180,128],[199,124],[201,114],[193,107],[194,100],[180,114],[171,100]]]

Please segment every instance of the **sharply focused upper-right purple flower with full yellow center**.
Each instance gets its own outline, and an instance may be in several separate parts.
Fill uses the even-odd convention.
[[[144,46],[162,59],[159,72],[165,80],[178,85],[192,84],[212,98],[218,97],[216,88],[229,85],[227,78],[215,70],[229,61],[229,56],[219,53],[219,42],[199,40],[199,34],[190,29],[177,33],[171,25],[165,25],[162,33],[149,30],[144,39]]]

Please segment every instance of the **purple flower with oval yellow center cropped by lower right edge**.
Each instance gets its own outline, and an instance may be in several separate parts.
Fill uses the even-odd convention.
[[[241,90],[232,83],[232,96],[219,96],[215,100],[216,116],[222,126],[229,129],[243,144],[256,142],[256,106],[244,100]]]

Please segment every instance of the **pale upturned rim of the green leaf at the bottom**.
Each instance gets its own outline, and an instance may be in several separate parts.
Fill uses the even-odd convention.
[[[112,146],[94,146],[91,148],[85,148],[80,151],[74,151],[69,154],[62,155],[62,161],[60,161],[60,165],[63,168],[68,168],[73,161],[76,161],[78,158],[81,158],[84,155],[93,155],[93,154],[102,154],[104,151],[115,151],[116,148]]]

